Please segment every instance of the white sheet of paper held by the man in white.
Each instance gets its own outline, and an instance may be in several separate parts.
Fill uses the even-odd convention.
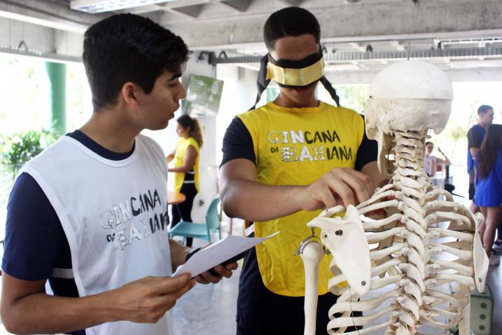
[[[200,275],[204,271],[223,263],[227,259],[231,259],[238,254],[245,252],[247,249],[254,247],[258,243],[263,242],[277,235],[279,231],[268,235],[265,238],[245,238],[243,236],[230,235],[223,240],[209,245],[198,252],[195,252],[185,264],[178,266],[173,274],[173,277],[178,277],[184,273],[190,273],[192,277]]]

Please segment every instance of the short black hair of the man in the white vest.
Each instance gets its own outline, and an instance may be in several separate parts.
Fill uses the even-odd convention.
[[[127,81],[146,94],[165,71],[183,71],[188,47],[181,37],[148,18],[112,15],[92,25],[84,35],[83,63],[96,109],[117,103]]]

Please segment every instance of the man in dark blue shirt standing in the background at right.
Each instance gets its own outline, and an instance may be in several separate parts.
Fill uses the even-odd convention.
[[[469,174],[469,200],[473,200],[475,184],[476,184],[476,172],[474,160],[477,155],[477,151],[481,147],[481,143],[484,139],[484,134],[487,127],[491,125],[494,121],[494,109],[493,107],[482,104],[477,109],[477,124],[473,125],[467,132],[467,173]],[[477,212],[475,203],[470,205],[471,212]]]

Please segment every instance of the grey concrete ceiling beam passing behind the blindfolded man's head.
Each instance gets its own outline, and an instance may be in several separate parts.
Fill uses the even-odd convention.
[[[436,0],[361,3],[309,8],[321,24],[323,42],[384,41],[447,36],[500,36],[502,1]],[[263,24],[270,13],[191,22],[162,22],[197,48],[228,48],[263,43]],[[333,19],[336,18],[336,19]],[[488,35],[487,35],[488,34]]]

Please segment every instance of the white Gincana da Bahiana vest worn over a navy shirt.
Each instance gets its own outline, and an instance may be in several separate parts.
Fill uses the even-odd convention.
[[[136,137],[131,156],[108,160],[63,136],[31,160],[32,175],[67,235],[78,294],[116,289],[148,275],[171,275],[167,229],[167,166],[152,139]],[[108,322],[86,334],[172,334],[169,313],[156,324]]]

